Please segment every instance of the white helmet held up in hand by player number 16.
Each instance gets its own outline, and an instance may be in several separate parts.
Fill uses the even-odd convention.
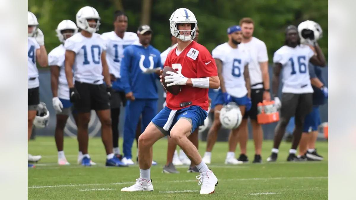
[[[323,37],[323,29],[321,29],[319,23],[311,20],[300,23],[298,33],[302,44],[308,43],[308,40],[314,42]]]

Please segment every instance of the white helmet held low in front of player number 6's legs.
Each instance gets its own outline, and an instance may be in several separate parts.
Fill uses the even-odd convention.
[[[221,125],[226,129],[235,129],[240,126],[242,114],[239,106],[235,102],[224,105],[219,116]]]

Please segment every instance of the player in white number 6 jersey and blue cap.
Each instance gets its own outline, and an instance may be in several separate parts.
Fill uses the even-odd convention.
[[[248,111],[251,109],[250,76],[248,74],[248,63],[250,63],[251,58],[244,49],[238,46],[242,41],[241,27],[231,26],[227,28],[227,34],[229,41],[220,44],[211,53],[218,67],[220,90],[214,101],[214,122],[210,127],[206,141],[206,151],[203,157],[205,163],[211,162],[211,151],[218,138],[218,131],[221,128],[219,116],[223,105],[231,101],[235,102],[239,105],[242,115],[245,114],[245,110]],[[231,131],[229,151],[226,155],[225,164],[242,163],[235,158],[238,131],[239,127]]]

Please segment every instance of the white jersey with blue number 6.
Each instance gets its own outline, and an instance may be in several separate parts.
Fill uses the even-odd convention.
[[[251,58],[248,52],[240,48],[232,48],[227,42],[217,46],[211,55],[223,62],[223,77],[226,92],[241,98],[246,96],[245,66]]]

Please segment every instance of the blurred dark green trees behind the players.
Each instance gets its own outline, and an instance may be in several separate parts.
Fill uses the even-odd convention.
[[[143,23],[151,26],[154,34],[151,44],[161,52],[170,46],[169,17],[180,7],[191,10],[198,20],[199,43],[209,51],[227,41],[226,29],[238,25],[242,17],[255,21],[254,36],[267,46],[269,62],[273,53],[283,46],[284,30],[305,20],[314,20],[323,28],[319,45],[328,57],[328,1],[327,0],[28,0],[45,35],[47,51],[59,45],[56,32],[59,22],[75,15],[83,6],[98,10],[101,25],[98,33],[113,30],[113,13],[124,10],[129,18],[127,31],[136,32]]]

